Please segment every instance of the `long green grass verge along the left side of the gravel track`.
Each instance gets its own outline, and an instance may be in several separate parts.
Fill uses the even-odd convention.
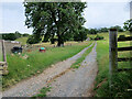
[[[34,51],[22,55],[8,55],[9,75],[2,78],[3,89],[22,79],[42,73],[52,64],[74,56],[90,44],[91,42],[85,42],[73,46],[48,48],[46,53]],[[25,56],[28,58],[24,58]]]

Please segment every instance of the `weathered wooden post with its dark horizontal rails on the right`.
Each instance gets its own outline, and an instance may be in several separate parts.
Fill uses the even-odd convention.
[[[110,75],[116,72],[127,72],[132,70],[132,68],[118,68],[118,62],[132,62],[131,57],[118,57],[118,52],[132,51],[132,46],[129,47],[118,47],[118,42],[132,41],[132,36],[123,36],[118,38],[118,32],[116,29],[110,29],[109,32],[109,69]]]

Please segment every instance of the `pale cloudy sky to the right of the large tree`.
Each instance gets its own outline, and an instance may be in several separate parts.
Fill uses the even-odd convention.
[[[127,3],[88,3],[85,10],[86,28],[101,28],[123,25],[130,18],[130,11],[125,11]]]

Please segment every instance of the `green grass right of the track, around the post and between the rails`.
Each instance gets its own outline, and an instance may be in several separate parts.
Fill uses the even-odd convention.
[[[129,35],[129,33],[119,33]],[[105,41],[98,41],[97,43],[97,61],[98,61],[98,68],[99,73],[96,78],[96,97],[132,97],[132,73],[129,72],[122,72],[117,73],[113,76],[113,87],[112,92],[110,95],[109,91],[109,35],[101,33],[100,35],[103,35],[106,37]],[[121,42],[118,43],[118,47],[122,46],[129,46],[129,42]],[[118,53],[119,57],[130,57],[130,52],[122,52]],[[121,62],[118,64],[118,68],[123,67],[131,67],[130,63]]]

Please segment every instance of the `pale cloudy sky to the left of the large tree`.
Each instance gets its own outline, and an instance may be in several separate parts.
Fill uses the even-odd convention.
[[[21,2],[2,3],[2,30],[0,33],[32,33],[32,29],[25,26],[24,7]]]

